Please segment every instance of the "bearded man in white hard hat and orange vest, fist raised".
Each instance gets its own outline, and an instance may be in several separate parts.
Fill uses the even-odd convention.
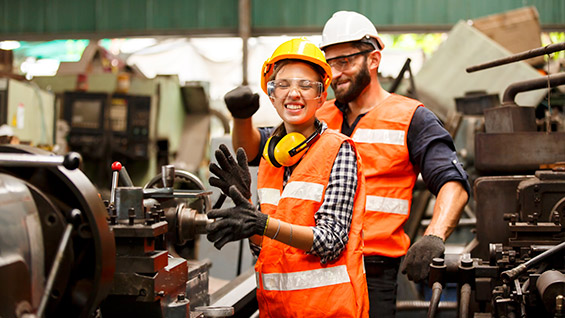
[[[409,279],[427,279],[433,258],[455,229],[469,198],[467,174],[453,140],[422,103],[384,90],[377,72],[384,43],[362,14],[339,11],[326,22],[320,48],[332,68],[336,99],[316,113],[329,128],[351,136],[366,178],[364,252],[371,317],[394,317],[399,267]],[[253,127],[259,107],[249,90],[225,97],[234,116],[233,145],[260,158],[268,129]],[[253,163],[253,160],[251,161]],[[403,226],[410,214],[418,174],[437,196],[430,225],[410,245]],[[404,260],[401,260],[404,257]]]

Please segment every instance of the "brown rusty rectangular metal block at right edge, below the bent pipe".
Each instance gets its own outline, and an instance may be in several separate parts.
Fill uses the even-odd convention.
[[[475,167],[484,174],[533,173],[559,161],[565,161],[565,132],[475,135]]]

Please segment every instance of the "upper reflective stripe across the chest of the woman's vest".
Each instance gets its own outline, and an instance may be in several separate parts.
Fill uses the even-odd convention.
[[[261,203],[278,205],[282,198],[293,198],[301,200],[322,201],[324,186],[319,183],[293,181],[289,182],[280,195],[279,189],[260,188],[257,189]]]

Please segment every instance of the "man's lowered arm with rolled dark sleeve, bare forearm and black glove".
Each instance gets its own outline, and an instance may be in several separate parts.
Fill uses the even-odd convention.
[[[423,107],[416,110],[407,139],[410,161],[421,171],[428,190],[436,195],[430,225],[408,249],[400,268],[410,280],[419,282],[428,277],[432,259],[444,253],[444,242],[459,222],[470,186],[453,139],[431,111]]]

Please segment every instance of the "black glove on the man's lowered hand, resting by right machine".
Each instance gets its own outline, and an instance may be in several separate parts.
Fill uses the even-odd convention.
[[[440,237],[425,235],[408,249],[400,270],[416,283],[423,281],[428,278],[432,260],[442,256],[444,251],[445,245]]]

